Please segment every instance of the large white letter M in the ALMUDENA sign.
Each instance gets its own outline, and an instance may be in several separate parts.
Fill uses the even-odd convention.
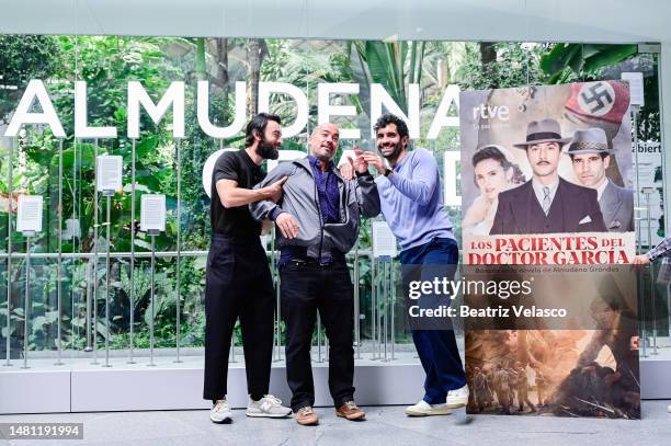
[[[158,104],[151,101],[140,82],[128,82],[128,138],[139,138],[140,104],[155,124],[160,123],[172,105],[172,136],[184,137],[184,82],[171,82]]]

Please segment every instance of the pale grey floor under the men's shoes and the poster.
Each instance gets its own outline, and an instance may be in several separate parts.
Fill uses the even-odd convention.
[[[248,419],[234,411],[234,422],[217,425],[207,411],[106,412],[3,415],[9,422],[82,422],[83,441],[2,441],[0,445],[670,445],[669,401],[644,401],[644,419],[592,420],[502,415],[409,419],[402,407],[365,408],[365,422],[336,418],[317,409],[318,426],[293,420]]]

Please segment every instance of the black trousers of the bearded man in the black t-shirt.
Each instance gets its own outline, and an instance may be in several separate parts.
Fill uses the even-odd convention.
[[[228,354],[240,318],[248,393],[268,393],[273,352],[275,294],[259,238],[215,235],[205,279],[205,382],[203,398],[227,393]]]

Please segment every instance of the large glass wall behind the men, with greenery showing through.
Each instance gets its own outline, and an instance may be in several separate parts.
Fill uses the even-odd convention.
[[[26,334],[29,350],[41,353],[60,346],[66,356],[98,357],[107,345],[110,351],[126,351],[124,355],[145,355],[151,325],[157,348],[203,346],[211,235],[203,167],[217,150],[242,147],[243,129],[236,116],[246,121],[265,110],[265,98],[285,128],[294,127],[284,138],[283,150],[303,152],[307,136],[328,112],[327,103],[352,106],[349,116],[333,119],[351,131],[351,137],[341,140],[337,159],[355,146],[374,148],[371,122],[380,95],[388,95],[382,110],[396,104],[408,116],[416,113],[419,128],[412,146],[433,151],[446,190],[454,191],[445,196],[445,211],[458,239],[460,183],[471,179],[462,179],[458,161],[450,161],[458,160],[459,152],[455,91],[619,79],[623,71],[641,71],[646,104],[637,113],[635,161],[637,236],[645,251],[663,237],[664,227],[658,65],[657,54],[639,54],[637,45],[0,36],[0,135],[33,79],[44,82],[67,135],[57,138],[53,128],[31,125],[14,138],[0,138],[2,358],[9,357],[8,345],[12,358],[21,357]],[[207,118],[218,127],[232,128],[226,138],[207,136],[198,124],[196,85],[201,80],[209,82]],[[88,124],[115,126],[117,138],[73,137],[75,81],[87,82]],[[143,113],[139,138],[127,138],[130,81],[140,81],[155,103],[170,82],[185,82],[183,137],[173,137],[169,111],[158,125]],[[355,92],[336,89],[330,94],[319,87],[336,83],[359,87]],[[266,95],[269,89],[273,92]],[[33,111],[39,106],[33,104]],[[437,127],[436,116],[444,117]],[[95,192],[99,155],[123,157],[124,186],[110,199]],[[642,186],[653,187],[653,193],[640,194]],[[145,193],[166,194],[168,207],[167,230],[155,240],[153,312],[151,241],[138,227],[139,197]],[[15,230],[20,195],[44,197],[43,230],[30,240],[30,276],[26,239]],[[408,350],[411,342],[399,289],[400,268],[396,262],[372,262],[369,224],[362,225],[357,249],[349,259],[357,286],[359,354],[382,355],[385,336],[380,331],[388,333],[389,347]],[[272,236],[266,247],[277,278]],[[652,282],[647,272],[642,276],[646,313],[657,313],[659,334],[666,334],[666,278],[659,272]],[[385,286],[382,278],[389,283]],[[283,343],[283,336],[278,339]],[[319,336],[319,342],[323,339]],[[240,345],[239,338],[236,344]]]

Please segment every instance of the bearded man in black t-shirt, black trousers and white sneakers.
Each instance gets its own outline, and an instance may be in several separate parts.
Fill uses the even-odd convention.
[[[263,161],[280,155],[280,125],[276,115],[254,116],[247,125],[244,149],[224,152],[212,175],[203,398],[214,403],[209,419],[215,423],[231,421],[226,386],[230,340],[238,318],[247,368],[247,415],[283,418],[292,412],[269,394],[275,293],[259,238],[261,224],[252,218],[248,206],[262,199],[276,202],[282,196],[286,178],[252,190],[265,176]]]

